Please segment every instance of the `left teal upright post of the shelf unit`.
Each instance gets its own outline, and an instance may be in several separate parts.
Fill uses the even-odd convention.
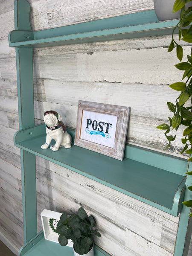
[[[31,31],[30,6],[26,0],[15,0],[15,29]],[[26,38],[27,39],[27,38]],[[19,128],[34,126],[32,48],[16,48]],[[20,150],[24,243],[37,234],[35,155]]]

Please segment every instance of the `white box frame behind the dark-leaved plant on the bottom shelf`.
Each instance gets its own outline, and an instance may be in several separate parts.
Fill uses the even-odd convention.
[[[46,240],[59,243],[58,242],[58,237],[59,235],[55,233],[52,228],[49,226],[49,219],[54,218],[56,221],[59,221],[60,216],[62,213],[60,212],[53,212],[44,209],[43,212],[41,212],[41,221],[42,221],[42,226],[44,230],[44,237]],[[69,240],[67,246],[73,247],[73,242]]]

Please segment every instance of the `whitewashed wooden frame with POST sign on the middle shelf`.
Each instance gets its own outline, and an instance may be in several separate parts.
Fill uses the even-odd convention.
[[[74,144],[123,160],[130,108],[79,101]]]

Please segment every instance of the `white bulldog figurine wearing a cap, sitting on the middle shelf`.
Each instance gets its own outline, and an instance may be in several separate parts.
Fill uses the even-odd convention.
[[[49,147],[51,140],[56,143],[52,147],[53,151],[57,151],[60,146],[71,148],[72,137],[65,129],[64,123],[61,122],[62,117],[56,111],[46,111],[43,116],[46,124],[46,142],[41,148],[46,149]]]

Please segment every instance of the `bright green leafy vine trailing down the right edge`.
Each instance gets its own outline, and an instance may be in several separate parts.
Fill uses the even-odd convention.
[[[171,52],[176,48],[177,58],[182,61],[183,58],[183,48],[175,41],[174,32],[178,29],[178,39],[183,40],[188,43],[192,43],[192,7],[185,9],[185,4],[192,2],[192,0],[176,0],[173,6],[173,12],[180,12],[180,20],[173,29],[172,41],[169,45],[168,52]],[[171,112],[173,112],[173,117],[169,117],[169,124],[163,123],[157,126],[158,129],[166,130],[165,136],[168,140],[168,145],[165,149],[169,148],[171,142],[175,140],[175,136],[169,135],[169,132],[176,130],[180,125],[184,125],[183,138],[181,139],[183,143],[183,150],[181,154],[186,152],[186,154],[192,153],[192,50],[187,55],[187,61],[180,62],[175,65],[178,70],[183,70],[183,77],[181,81],[170,84],[169,86],[173,90],[180,92],[179,96],[174,103],[167,102],[167,106]],[[184,79],[184,81],[183,81]],[[189,105],[189,103],[191,103]],[[188,106],[189,105],[189,106]],[[189,157],[188,161],[192,162],[192,157]],[[188,175],[192,175],[192,172],[188,172]],[[192,191],[192,186],[188,187]],[[192,207],[192,200],[183,202],[187,207]],[[192,216],[192,213],[190,214]]]

